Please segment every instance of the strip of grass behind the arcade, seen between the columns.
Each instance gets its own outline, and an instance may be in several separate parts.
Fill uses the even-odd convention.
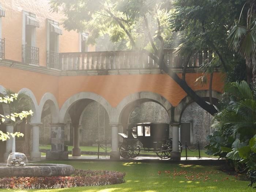
[[[40,149],[51,149],[51,146],[50,145],[40,145],[39,148]],[[72,148],[73,148],[73,146],[68,146],[68,150],[69,151],[72,151]],[[97,146],[80,146],[80,149],[81,149],[81,151],[94,151],[94,152],[98,152],[98,147]],[[102,148],[99,148],[99,151],[100,152],[105,152]],[[206,152],[205,149],[200,150],[201,157],[214,157],[212,155],[207,155],[205,152]],[[143,153],[143,152],[141,152],[140,154],[142,154],[142,155],[143,154],[156,155],[155,153]],[[45,153],[41,153],[41,155],[45,155]],[[199,152],[198,152],[198,150],[193,151],[193,152],[187,150],[187,155],[188,155],[188,157],[199,157]],[[182,150],[181,157],[186,157],[185,148]]]

